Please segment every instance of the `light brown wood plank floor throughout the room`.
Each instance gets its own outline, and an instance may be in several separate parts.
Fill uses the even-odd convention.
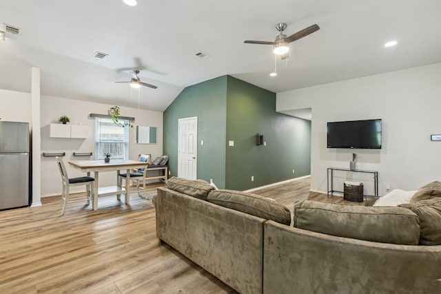
[[[295,200],[328,200],[309,193],[309,178],[254,193],[291,210]],[[64,216],[59,197],[42,202],[0,211],[0,293],[235,293],[158,241],[152,200],[101,197],[98,211],[76,202]]]

